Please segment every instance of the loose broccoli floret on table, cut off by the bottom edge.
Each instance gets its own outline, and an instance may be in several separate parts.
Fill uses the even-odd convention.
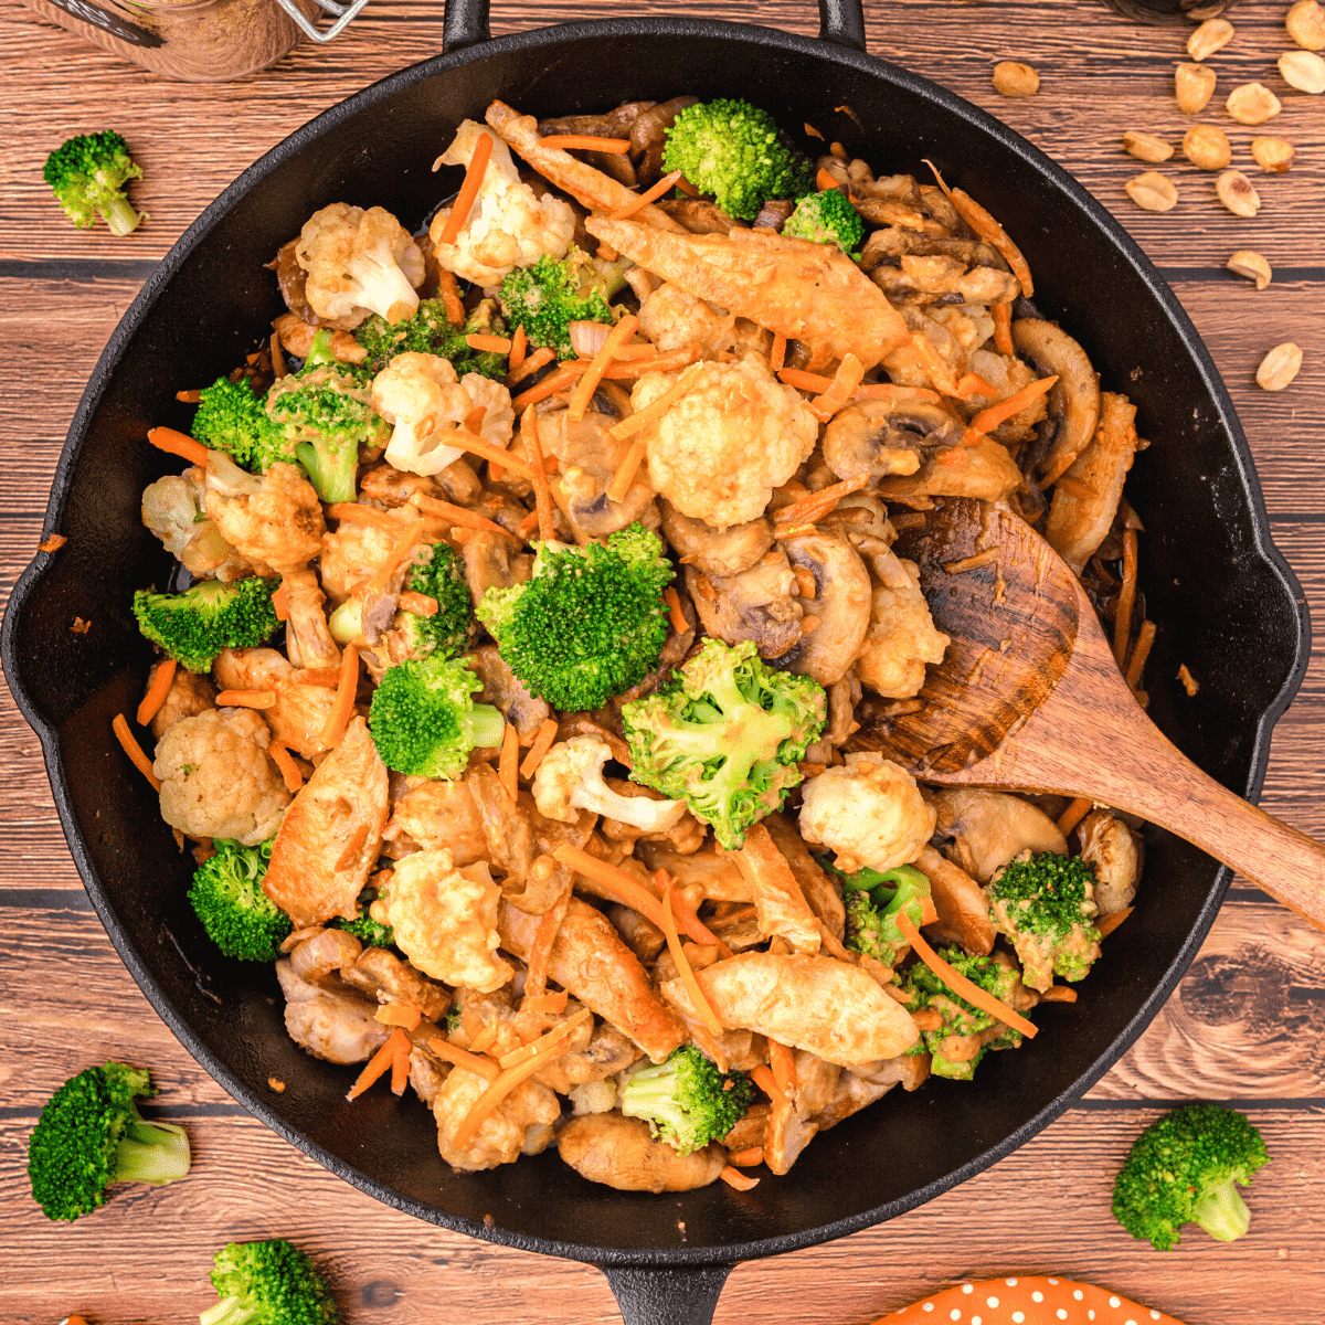
[[[313,1260],[284,1238],[231,1243],[216,1253],[221,1298],[199,1325],[334,1325],[335,1298]]]

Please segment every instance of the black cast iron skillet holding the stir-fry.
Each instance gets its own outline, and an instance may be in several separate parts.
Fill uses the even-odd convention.
[[[182,386],[240,362],[282,311],[262,269],[333,201],[380,204],[416,227],[456,178],[429,164],[466,115],[502,97],[534,114],[677,93],[746,97],[791,127],[815,123],[880,171],[931,158],[1003,220],[1061,319],[1140,405],[1154,445],[1129,496],[1147,530],[1147,612],[1162,623],[1151,713],[1203,768],[1255,798],[1271,727],[1306,661],[1306,611],[1265,529],[1232,405],[1177,299],[1068,175],[933,83],[864,53],[859,0],[820,0],[820,40],[689,19],[620,19],[489,40],[488,0],[450,0],[447,54],[333,107],[269,152],[188,229],[115,330],[78,407],[46,527],[69,538],[15,588],[4,668],[41,738],[70,851],[111,941],[188,1051],[252,1113],[380,1200],[447,1228],[602,1265],[635,1321],[704,1322],[730,1265],[839,1238],[929,1200],[1008,1154],[1072,1104],[1154,1016],[1200,945],[1228,872],[1147,833],[1146,881],[1125,953],[1075,1007],[1037,1012],[1043,1037],[991,1055],[970,1088],[931,1081],[818,1138],[786,1178],[738,1195],[680,1198],[583,1182],[555,1153],[453,1174],[429,1113],[376,1090],[344,1102],[355,1069],[286,1036],[266,967],[223,959],[184,898],[189,868],[110,733],[132,713],[150,649],[129,602],[168,558],[139,523],[139,494],[170,472],[143,441],[188,425]],[[835,107],[849,107],[837,111]],[[808,142],[807,142],[807,146]],[[453,172],[458,176],[458,172]],[[78,615],[93,621],[69,631]],[[1234,641],[1255,640],[1257,665]],[[1194,700],[1169,677],[1186,662]],[[288,1083],[284,1094],[269,1076]],[[684,1224],[684,1231],[682,1231]]]

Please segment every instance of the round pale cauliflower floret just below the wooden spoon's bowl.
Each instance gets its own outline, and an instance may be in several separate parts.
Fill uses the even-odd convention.
[[[934,832],[935,811],[916,779],[881,754],[849,754],[847,766],[806,783],[800,836],[837,852],[837,868],[885,873],[908,865]]]

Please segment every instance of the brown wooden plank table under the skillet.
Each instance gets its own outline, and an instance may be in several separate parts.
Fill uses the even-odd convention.
[[[500,4],[494,30],[610,15],[611,0]],[[812,33],[810,4],[648,0],[655,15],[754,16]],[[871,50],[934,78],[998,115],[1061,162],[1129,227],[1206,338],[1251,439],[1279,546],[1325,620],[1325,109],[1275,69],[1288,49],[1283,0],[1242,0],[1238,34],[1214,60],[1216,101],[1235,164],[1264,199],[1255,220],[1226,212],[1214,176],[1181,155],[1163,167],[1182,203],[1134,207],[1124,182],[1145,168],[1120,147],[1125,129],[1177,143],[1189,123],[1171,97],[1183,29],[1128,24],[1094,0],[1040,4],[871,0]],[[162,82],[0,3],[0,592],[41,538],[65,429],[102,346],[155,261],[245,166],[363,85],[437,50],[441,7],[372,0],[327,48],[301,46],[227,86]],[[1004,99],[996,60],[1020,58],[1039,95]],[[1261,175],[1248,143],[1263,130],[1218,107],[1239,82],[1284,99],[1267,130],[1298,164]],[[146,179],[151,213],[117,240],[61,216],[41,166],[65,136],[117,127]],[[440,146],[439,146],[440,150]],[[1239,248],[1275,266],[1264,293],[1223,270]],[[205,314],[204,314],[205,315]],[[1281,341],[1305,350],[1279,395],[1253,372]],[[1155,439],[1158,444],[1163,439]],[[1263,804],[1325,836],[1325,657],[1317,649],[1279,725]],[[1249,653],[1247,666],[1255,666]],[[417,1223],[338,1182],[253,1121],[158,1020],[82,893],[52,804],[37,741],[0,696],[0,1320],[191,1321],[212,1298],[212,1252],[229,1239],[285,1235],[318,1255],[355,1325],[423,1320],[616,1320],[607,1283],[583,1265],[488,1246]],[[1162,886],[1150,878],[1146,886]],[[1263,893],[1235,884],[1192,970],[1126,1057],[1035,1141],[955,1191],[884,1227],[739,1267],[717,1320],[868,1321],[962,1277],[1061,1273],[1106,1284],[1189,1325],[1320,1325],[1325,1318],[1325,938]],[[184,1183],[132,1189],[74,1226],[46,1222],[28,1194],[28,1133],[50,1090],[91,1061],[150,1064],[163,1112],[186,1122],[197,1166]],[[1132,1140],[1171,1102],[1230,1101],[1275,1155],[1251,1192],[1252,1231],[1231,1246],[1199,1231],[1159,1253],[1113,1222],[1113,1174]]]

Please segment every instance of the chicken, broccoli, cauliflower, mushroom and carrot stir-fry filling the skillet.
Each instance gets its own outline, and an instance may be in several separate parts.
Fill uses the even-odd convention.
[[[871,745],[949,644],[893,551],[937,497],[1039,529],[1140,688],[1143,443],[937,178],[742,102],[485,119],[425,233],[310,216],[270,341],[152,431],[195,584],[135,598],[117,733],[351,1100],[412,1089],[456,1169],[745,1190],[1036,1052],[1126,918],[1122,816]]]

